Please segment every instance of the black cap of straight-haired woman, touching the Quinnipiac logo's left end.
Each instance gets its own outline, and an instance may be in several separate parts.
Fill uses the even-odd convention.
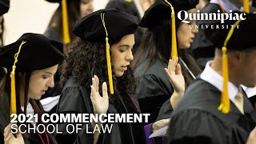
[[[180,10],[190,10],[195,8],[198,4],[198,0],[168,0],[174,7],[175,14],[178,14]],[[139,26],[153,27],[158,26],[159,22],[163,19],[171,18],[170,6],[165,0],[157,0],[148,10],[146,10]],[[177,17],[176,17],[177,18]]]

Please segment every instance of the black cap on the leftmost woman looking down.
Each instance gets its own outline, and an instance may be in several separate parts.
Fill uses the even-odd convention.
[[[8,72],[14,65],[14,54],[25,41],[18,54],[16,72],[42,70],[61,63],[63,60],[63,45],[61,42],[46,38],[42,34],[23,34],[21,38],[0,49],[0,66],[6,67]]]

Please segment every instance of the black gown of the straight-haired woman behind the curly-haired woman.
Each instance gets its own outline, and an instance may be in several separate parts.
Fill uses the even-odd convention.
[[[146,60],[134,70],[134,75],[137,79],[135,96],[138,98],[142,114],[150,114],[149,123],[151,123],[156,121],[159,110],[164,102],[166,102],[164,110],[172,110],[170,96],[174,90],[164,70],[167,67],[166,64],[157,59],[150,63],[149,68],[147,68],[148,65],[149,61]],[[162,112],[162,114],[168,113]]]

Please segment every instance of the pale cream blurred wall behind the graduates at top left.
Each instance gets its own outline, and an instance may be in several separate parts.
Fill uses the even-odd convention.
[[[94,11],[102,9],[109,0],[94,0]],[[24,33],[43,34],[58,3],[45,0],[11,0],[10,10],[4,14],[4,44],[15,42]]]

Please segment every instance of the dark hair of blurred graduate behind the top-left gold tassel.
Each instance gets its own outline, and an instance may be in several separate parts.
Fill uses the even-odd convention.
[[[76,38],[72,33],[75,22],[81,17],[80,14],[80,0],[71,0],[67,2],[67,12],[69,21],[69,32],[71,41]],[[62,35],[62,6],[58,6],[58,9],[54,12],[53,17],[50,20],[49,26],[53,26],[57,29],[58,35]]]

